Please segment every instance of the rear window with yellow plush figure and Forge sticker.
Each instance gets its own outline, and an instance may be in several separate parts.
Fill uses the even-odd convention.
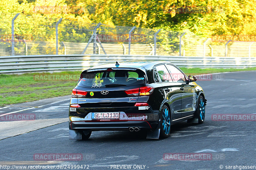
[[[141,70],[100,70],[82,73],[77,86],[87,88],[105,88],[145,84],[146,76]]]

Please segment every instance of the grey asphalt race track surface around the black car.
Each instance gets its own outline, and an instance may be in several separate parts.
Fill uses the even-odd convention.
[[[210,81],[197,81],[207,99],[205,122],[175,124],[171,127],[171,136],[159,140],[146,139],[142,131],[98,131],[92,132],[87,141],[68,140],[67,96],[2,107],[1,115],[29,113],[36,115],[36,120],[0,121],[0,169],[6,169],[3,165],[61,165],[63,169],[65,166],[71,169],[68,165],[89,165],[92,170],[120,169],[113,165],[148,170],[256,166],[256,122],[213,121],[211,118],[212,114],[256,114],[255,75],[256,71],[222,73],[214,74]],[[83,160],[38,161],[33,158],[37,153],[80,153]],[[212,158],[165,160],[165,153],[210,153]],[[142,165],[142,168],[134,165]]]

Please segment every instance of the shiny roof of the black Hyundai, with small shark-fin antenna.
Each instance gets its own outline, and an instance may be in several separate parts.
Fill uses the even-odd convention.
[[[120,68],[141,68],[144,67],[145,69],[150,69],[156,64],[161,64],[161,63],[170,63],[166,61],[126,61],[126,62],[118,62],[120,65]],[[171,63],[170,63],[171,64]],[[101,68],[115,68],[116,67],[116,62],[113,63],[108,63],[108,64],[101,64],[98,66],[94,66],[91,69],[101,69]]]

